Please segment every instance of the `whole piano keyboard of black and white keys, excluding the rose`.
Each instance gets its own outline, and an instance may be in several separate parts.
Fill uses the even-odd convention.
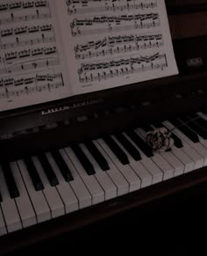
[[[146,132],[163,126],[174,128],[175,143],[171,150],[153,152],[145,143]],[[149,123],[16,162],[2,162],[0,235],[137,191],[205,165],[207,118],[203,113]]]

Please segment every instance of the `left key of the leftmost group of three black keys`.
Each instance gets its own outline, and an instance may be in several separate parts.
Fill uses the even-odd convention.
[[[41,179],[39,178],[39,173],[32,162],[31,157],[25,157],[24,162],[27,168],[27,171],[32,179],[32,184],[36,191],[43,190],[45,187],[42,184]]]

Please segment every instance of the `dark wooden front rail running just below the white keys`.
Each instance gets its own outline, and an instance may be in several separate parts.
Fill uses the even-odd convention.
[[[138,214],[145,210],[152,211],[154,202],[162,199],[170,201],[170,197],[176,195],[181,198],[180,194],[182,193],[185,196],[187,193],[189,198],[190,194],[194,196],[195,194],[199,196],[203,192],[207,194],[206,172],[207,167],[203,167],[194,172],[142,188],[139,191],[0,237],[0,255],[13,255],[12,253],[18,255],[18,250],[24,252],[31,246],[37,249],[39,243],[48,242],[50,239],[59,238],[62,235],[73,236],[73,231],[77,231],[78,238],[81,238],[82,228],[89,230],[92,224],[96,225],[96,223],[125,213],[130,215],[133,210],[136,210]]]

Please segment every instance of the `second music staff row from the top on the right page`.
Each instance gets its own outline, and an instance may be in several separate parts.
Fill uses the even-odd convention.
[[[158,13],[95,16],[92,18],[74,18],[70,23],[73,36],[96,33],[128,31],[132,29],[149,29],[161,26]]]

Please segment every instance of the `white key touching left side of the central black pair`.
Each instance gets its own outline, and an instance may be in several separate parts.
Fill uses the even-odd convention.
[[[93,175],[87,174],[87,172],[84,170],[82,164],[75,156],[75,153],[73,150],[71,150],[71,148],[66,148],[66,151],[71,162],[75,165],[76,171],[79,173],[80,177],[82,178],[82,181],[88,188],[89,193],[92,195],[92,204],[104,201],[103,188],[99,185],[96,178]]]

